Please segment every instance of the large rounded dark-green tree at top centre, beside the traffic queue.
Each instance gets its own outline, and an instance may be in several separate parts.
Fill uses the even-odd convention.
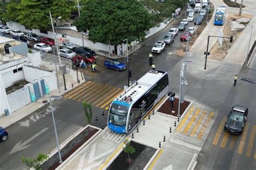
[[[92,42],[117,45],[144,38],[152,26],[149,12],[137,0],[89,0],[74,23],[79,32],[89,30]]]

